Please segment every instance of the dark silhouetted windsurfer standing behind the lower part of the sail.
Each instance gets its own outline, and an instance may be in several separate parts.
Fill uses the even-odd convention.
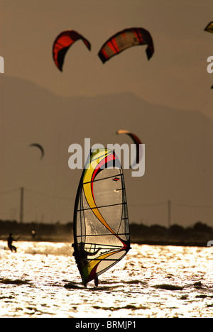
[[[82,268],[87,265],[88,262],[88,256],[95,256],[101,250],[102,248],[98,248],[93,253],[90,253],[89,251],[85,250],[85,244],[83,242],[80,242],[78,245],[78,250],[75,250],[75,244],[72,243],[72,247],[74,248],[74,253],[72,254],[75,257],[75,261],[77,263],[77,267],[79,268],[80,272],[82,272]],[[84,264],[82,265],[82,261],[84,261]],[[97,287],[99,284],[98,277],[94,278],[94,284]],[[87,287],[87,284],[84,284],[84,286]]]

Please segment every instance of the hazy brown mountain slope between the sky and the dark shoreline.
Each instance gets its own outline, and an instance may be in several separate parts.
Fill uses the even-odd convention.
[[[146,145],[146,172],[124,170],[130,221],[187,226],[212,224],[213,121],[197,111],[151,104],[131,93],[64,97],[17,77],[0,77],[1,192],[24,187],[24,220],[72,221],[82,170],[68,167],[68,147],[128,143],[118,129]],[[40,143],[45,157],[29,149]],[[84,151],[83,151],[84,152]],[[17,189],[18,190],[18,189]],[[69,199],[70,198],[70,199]],[[1,196],[0,218],[18,218],[19,193]]]

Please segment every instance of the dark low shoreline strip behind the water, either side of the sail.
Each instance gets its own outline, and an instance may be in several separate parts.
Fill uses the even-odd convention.
[[[6,241],[9,233],[20,241],[73,243],[72,223],[18,223],[0,220],[0,240]],[[130,224],[131,243],[138,245],[175,245],[207,247],[213,241],[213,230],[202,222],[183,228],[179,225],[166,228],[160,225]]]

